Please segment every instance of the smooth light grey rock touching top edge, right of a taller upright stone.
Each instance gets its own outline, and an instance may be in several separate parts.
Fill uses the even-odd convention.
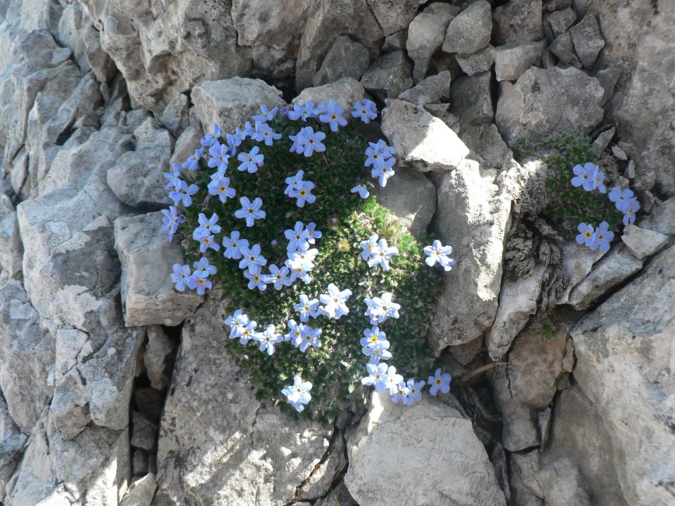
[[[451,20],[443,51],[470,55],[487,47],[492,32],[492,11],[485,0],[477,0]]]

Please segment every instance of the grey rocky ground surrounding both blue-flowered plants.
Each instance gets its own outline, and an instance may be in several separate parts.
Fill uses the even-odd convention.
[[[675,504],[673,2],[0,0],[0,21],[0,504]],[[299,422],[225,353],[217,297],[173,290],[162,173],[261,103],[364,96],[399,154],[381,201],[456,252],[428,336],[456,380]],[[515,143],[575,131],[643,212],[606,254],[540,238],[515,275],[547,170]]]

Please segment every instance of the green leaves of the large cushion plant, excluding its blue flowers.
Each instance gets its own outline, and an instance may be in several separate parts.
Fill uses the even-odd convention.
[[[304,285],[297,280],[290,287],[274,290],[269,285],[264,292],[248,290],[247,280],[238,268],[238,260],[226,259],[221,252],[209,249],[207,257],[217,267],[214,275],[214,287],[226,294],[224,304],[228,313],[242,307],[256,320],[258,328],[273,323],[283,325],[290,318],[299,321],[293,305],[297,304],[301,293],[310,298],[319,297],[326,292],[329,283],[335,283],[340,290],[349,288],[352,297],[347,302],[349,314],[340,320],[328,320],[320,316],[314,327],[321,327],[321,348],[309,348],[305,353],[285,342],[278,344],[276,353],[268,356],[258,351],[255,342],[241,345],[238,339],[227,339],[226,331],[214,336],[220,339],[233,356],[236,356],[243,368],[250,374],[260,398],[269,398],[278,402],[281,389],[293,383],[293,376],[302,375],[304,380],[312,382],[312,400],[306,406],[302,416],[321,417],[334,420],[344,410],[361,410],[366,397],[367,387],[361,385],[367,358],[361,353],[359,340],[364,329],[370,327],[364,316],[366,305],[364,297],[379,296],[383,292],[392,292],[394,301],[401,304],[397,320],[387,320],[380,329],[387,333],[391,343],[390,361],[397,370],[408,375],[426,374],[430,369],[429,353],[425,346],[425,333],[428,312],[442,282],[438,270],[428,268],[424,263],[423,244],[409,233],[401,230],[390,219],[387,210],[373,197],[364,200],[350,189],[359,181],[371,181],[370,169],[364,167],[364,151],[367,142],[359,135],[358,126],[353,122],[339,132],[333,133],[327,125],[312,124],[314,129],[326,133],[326,152],[314,153],[307,158],[290,153],[291,141],[288,135],[297,134],[304,126],[301,122],[290,122],[276,117],[271,124],[274,131],[283,134],[274,146],[245,141],[238,151],[248,152],[253,145],[259,145],[265,156],[264,166],[256,174],[247,174],[236,169],[236,158],[230,161],[227,176],[231,187],[236,189],[236,197],[221,203],[218,197],[208,195],[207,184],[214,169],[207,168],[202,160],[201,170],[188,174],[197,183],[200,191],[193,195],[193,205],[185,209],[186,223],[179,228],[185,238],[183,246],[186,259],[192,263],[203,256],[199,252],[198,242],[192,240],[193,228],[197,225],[198,214],[211,216],[216,213],[222,233],[217,240],[231,231],[238,230],[251,245],[258,243],[262,254],[271,264],[283,266],[287,257],[287,240],[284,231],[293,228],[295,221],[307,224],[316,223],[323,232],[323,238],[317,240],[319,256],[316,267],[311,271],[314,281]],[[293,176],[302,169],[304,179],[316,184],[313,193],[314,204],[304,208],[295,205],[295,199],[284,195],[285,178]],[[394,176],[396,177],[396,176]],[[257,220],[255,226],[247,228],[243,220],[236,219],[234,212],[240,207],[239,198],[261,197],[262,209],[266,219]],[[378,233],[385,237],[390,245],[399,248],[399,255],[391,261],[391,270],[383,271],[379,266],[368,268],[361,259],[359,242],[369,235]],[[276,240],[278,245],[272,246]],[[277,327],[281,330],[281,327]],[[285,402],[281,408],[291,410]]]

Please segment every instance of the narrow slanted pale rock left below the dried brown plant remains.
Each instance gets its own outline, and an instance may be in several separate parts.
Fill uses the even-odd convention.
[[[485,340],[492,360],[501,361],[529,317],[536,313],[545,270],[544,266],[535,266],[529,275],[507,278],[502,283],[499,307]]]

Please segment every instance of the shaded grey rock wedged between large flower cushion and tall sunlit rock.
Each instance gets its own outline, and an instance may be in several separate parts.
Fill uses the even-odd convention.
[[[372,194],[399,225],[420,237],[436,212],[436,187],[419,171],[397,167],[395,172],[386,188],[376,185]]]

